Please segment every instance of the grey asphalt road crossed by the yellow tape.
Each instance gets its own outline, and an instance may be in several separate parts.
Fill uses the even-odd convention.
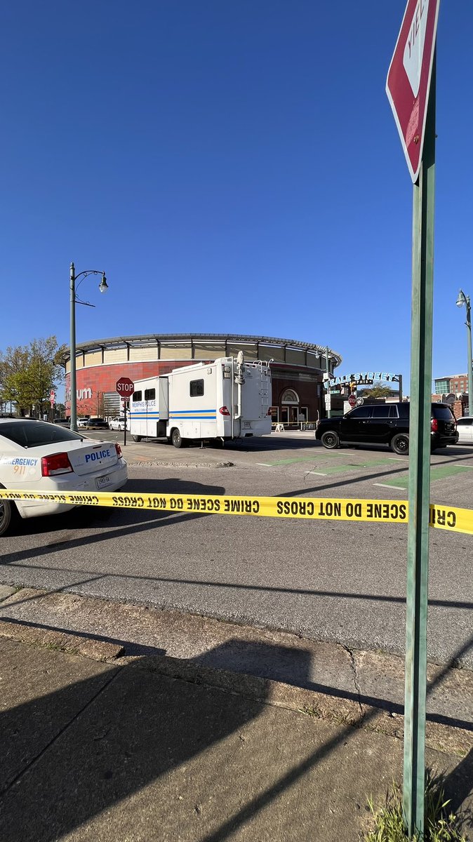
[[[313,433],[224,450],[130,444],[126,458],[136,492],[407,498],[406,460],[381,448],[327,451]],[[471,508],[473,448],[438,451],[432,470],[433,503]],[[471,537],[431,530],[430,541],[429,657],[473,668]],[[22,521],[0,547],[3,584],[404,650],[405,525],[84,507]]]

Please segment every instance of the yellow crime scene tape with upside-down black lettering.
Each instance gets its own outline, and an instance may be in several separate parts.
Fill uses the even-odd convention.
[[[250,514],[269,518],[351,520],[407,524],[407,500],[334,499],[322,497],[247,497],[231,494],[136,494],[98,491],[45,493],[0,488],[0,500],[42,500],[72,506],[110,506],[114,509]],[[473,510],[430,506],[429,525],[473,535]]]

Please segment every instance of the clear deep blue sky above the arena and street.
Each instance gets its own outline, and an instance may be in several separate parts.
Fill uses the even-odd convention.
[[[385,96],[404,0],[3,8],[0,348],[254,333],[408,381],[412,182]],[[433,376],[466,370],[473,3],[441,4]]]

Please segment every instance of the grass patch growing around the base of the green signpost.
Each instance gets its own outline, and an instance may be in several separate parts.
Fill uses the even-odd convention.
[[[407,836],[402,815],[401,787],[393,783],[386,796],[385,805],[375,809],[368,800],[371,811],[371,828],[364,835],[364,842],[421,842],[419,835]],[[444,797],[443,778],[427,772],[425,789],[425,827],[422,842],[466,842],[460,831],[460,819],[449,810]]]

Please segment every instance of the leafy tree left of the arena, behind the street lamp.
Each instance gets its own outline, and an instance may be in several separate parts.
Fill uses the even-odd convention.
[[[50,336],[0,352],[0,402],[15,403],[20,415],[41,416],[51,389],[56,390],[63,379],[64,351],[56,336]]]

